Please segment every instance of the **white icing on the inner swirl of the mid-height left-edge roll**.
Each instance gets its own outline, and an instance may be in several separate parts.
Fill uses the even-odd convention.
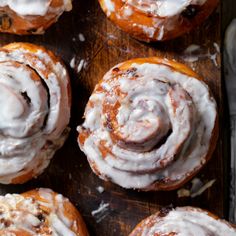
[[[6,62],[0,64],[0,71],[1,133],[22,138],[38,132],[48,113],[46,89],[39,81],[32,80],[30,72],[23,67]],[[30,107],[20,94],[23,92],[34,97]]]

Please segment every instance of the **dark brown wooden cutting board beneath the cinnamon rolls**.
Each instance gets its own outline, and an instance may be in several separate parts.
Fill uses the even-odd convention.
[[[0,44],[26,41],[44,45],[61,56],[66,63],[73,88],[71,133],[64,147],[59,150],[50,167],[37,180],[21,186],[0,186],[2,194],[23,192],[35,187],[48,187],[70,198],[82,213],[91,235],[128,235],[132,228],[144,217],[156,212],[161,206],[198,206],[227,216],[228,183],[225,117],[221,83],[220,7],[200,27],[190,34],[164,43],[145,44],[132,39],[109,22],[96,0],[74,1],[74,9],[65,13],[59,22],[43,36],[0,35]],[[83,41],[83,37],[85,41]],[[185,49],[190,45],[201,46],[201,56],[196,62],[184,59]],[[95,176],[84,154],[77,145],[76,126],[82,123],[82,115],[87,100],[104,73],[115,64],[134,57],[163,56],[188,64],[198,72],[210,86],[216,97],[220,115],[220,139],[211,161],[198,174],[203,182],[215,179],[211,188],[198,197],[178,198],[177,191],[142,193],[122,189],[106,183]],[[185,55],[186,56],[186,55]],[[75,57],[76,68],[84,60],[81,71],[70,68]],[[188,58],[193,59],[193,58]],[[227,145],[226,145],[227,146]],[[104,192],[97,188],[102,186]],[[187,186],[188,187],[188,186]],[[108,203],[100,215],[92,216],[101,203]]]

